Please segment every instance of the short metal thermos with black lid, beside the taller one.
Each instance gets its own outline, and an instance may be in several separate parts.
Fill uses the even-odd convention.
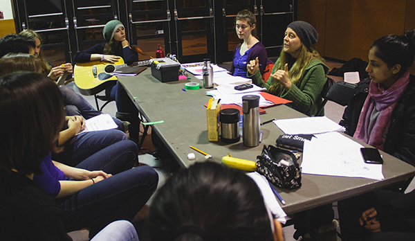
[[[222,109],[219,111],[221,121],[221,141],[235,143],[241,139],[239,136],[239,109]]]

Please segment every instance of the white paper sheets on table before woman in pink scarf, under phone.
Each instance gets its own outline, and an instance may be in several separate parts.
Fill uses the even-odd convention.
[[[363,146],[339,131],[344,127],[326,116],[274,120],[285,134],[314,134],[311,141],[304,141],[302,173],[339,177],[363,177],[381,180],[382,165],[363,161]]]

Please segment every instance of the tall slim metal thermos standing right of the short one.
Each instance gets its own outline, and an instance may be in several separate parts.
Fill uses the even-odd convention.
[[[257,146],[261,134],[259,129],[259,96],[243,96],[242,112],[243,145]]]

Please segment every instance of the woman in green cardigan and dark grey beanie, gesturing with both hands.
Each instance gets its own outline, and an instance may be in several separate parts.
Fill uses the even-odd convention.
[[[329,67],[311,45],[317,43],[317,31],[305,21],[294,21],[288,25],[284,48],[279,55],[270,78],[262,80],[259,62],[248,64],[248,77],[269,93],[293,101],[294,109],[315,116],[322,103],[322,89],[326,83]]]

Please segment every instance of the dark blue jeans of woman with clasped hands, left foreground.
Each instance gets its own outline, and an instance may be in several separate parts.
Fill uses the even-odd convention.
[[[130,143],[130,144],[129,144]],[[131,146],[135,150],[131,151]],[[157,172],[149,166],[132,168],[138,148],[120,141],[82,161],[77,168],[116,173],[74,195],[56,199],[69,220],[69,231],[89,227],[89,238],[115,220],[133,220],[157,188]]]

